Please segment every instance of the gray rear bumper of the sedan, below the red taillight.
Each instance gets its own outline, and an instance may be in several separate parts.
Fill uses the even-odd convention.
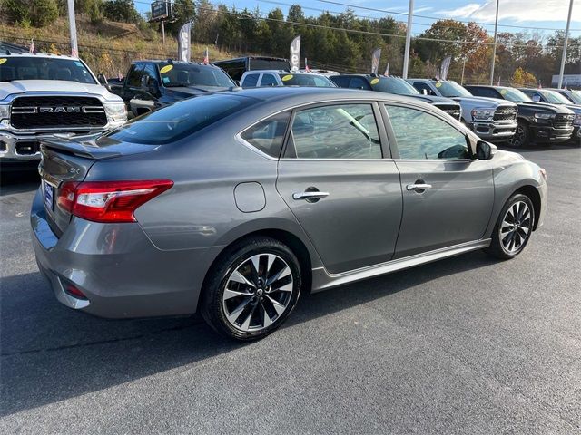
[[[40,189],[31,226],[36,262],[56,298],[70,308],[109,318],[194,313],[206,271],[222,249],[162,251],[137,223],[79,218],[57,238],[45,218]],[[87,299],[68,294],[68,285]]]

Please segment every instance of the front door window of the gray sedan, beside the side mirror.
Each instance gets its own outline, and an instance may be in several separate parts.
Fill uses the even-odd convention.
[[[469,159],[466,136],[425,111],[385,105],[400,159]]]

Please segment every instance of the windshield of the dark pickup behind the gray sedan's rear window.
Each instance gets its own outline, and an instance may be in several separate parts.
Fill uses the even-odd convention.
[[[162,85],[171,87],[219,86],[230,88],[236,86],[220,68],[195,63],[159,63]]]

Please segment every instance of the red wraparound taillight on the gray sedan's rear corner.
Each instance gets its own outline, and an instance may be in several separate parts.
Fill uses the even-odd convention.
[[[135,222],[133,213],[173,186],[169,179],[66,182],[57,204],[78,218],[94,222]]]

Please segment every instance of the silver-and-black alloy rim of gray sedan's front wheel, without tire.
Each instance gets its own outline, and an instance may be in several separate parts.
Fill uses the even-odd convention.
[[[511,205],[500,226],[500,243],[508,254],[517,253],[527,242],[533,225],[530,208],[525,201]]]

